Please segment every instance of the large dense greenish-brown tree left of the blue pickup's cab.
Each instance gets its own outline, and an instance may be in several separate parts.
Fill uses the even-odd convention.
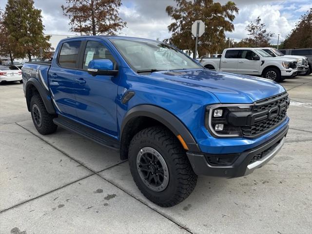
[[[48,51],[50,36],[44,36],[41,10],[34,7],[33,0],[8,0],[5,7],[4,25],[13,46],[15,58],[40,56]]]

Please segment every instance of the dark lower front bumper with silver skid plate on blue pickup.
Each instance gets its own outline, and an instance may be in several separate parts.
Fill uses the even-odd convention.
[[[240,154],[219,155],[221,159],[235,157],[234,162],[229,166],[216,166],[208,162],[209,158],[215,158],[218,155],[192,152],[187,152],[186,154],[197,175],[223,176],[229,178],[245,176],[252,173],[254,169],[262,167],[279,152],[285,142],[288,128],[289,126],[285,125],[278,134],[253,149],[246,150]]]

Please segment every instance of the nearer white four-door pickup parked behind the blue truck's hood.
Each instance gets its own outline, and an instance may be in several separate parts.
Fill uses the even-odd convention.
[[[221,58],[202,58],[199,62],[207,69],[263,76],[276,82],[297,75],[296,59],[272,57],[254,48],[225,49]]]

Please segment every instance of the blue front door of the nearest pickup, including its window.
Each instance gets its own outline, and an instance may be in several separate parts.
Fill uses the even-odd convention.
[[[109,135],[117,136],[117,88],[119,74],[92,76],[87,72],[92,59],[117,61],[102,40],[85,41],[81,69],[76,72],[77,119]]]

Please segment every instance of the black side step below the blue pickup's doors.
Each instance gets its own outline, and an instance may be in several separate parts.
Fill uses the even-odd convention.
[[[119,150],[119,142],[117,139],[109,137],[104,133],[100,133],[92,128],[86,127],[76,121],[59,116],[57,118],[54,118],[53,122],[66,130],[72,131],[83,137],[93,140],[100,145],[106,146],[114,150]]]

